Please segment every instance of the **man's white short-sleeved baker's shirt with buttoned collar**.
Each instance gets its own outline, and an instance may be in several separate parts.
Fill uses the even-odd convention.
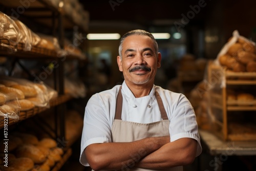
[[[120,85],[113,89],[94,94],[88,101],[83,121],[81,138],[80,163],[89,166],[84,149],[93,143],[111,142],[111,127],[115,117],[116,98]],[[148,96],[135,98],[131,90],[122,83],[122,120],[152,123],[162,120],[155,90],[159,93],[164,109],[170,121],[170,141],[180,138],[193,138],[197,140],[197,156],[201,154],[202,147],[198,133],[198,125],[193,107],[188,99],[180,93],[153,86]]]

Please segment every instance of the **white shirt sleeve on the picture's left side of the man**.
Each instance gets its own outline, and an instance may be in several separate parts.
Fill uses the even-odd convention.
[[[89,166],[84,149],[93,143],[111,142],[110,116],[108,109],[103,107],[103,101],[98,94],[93,95],[86,106],[81,137],[80,163]]]

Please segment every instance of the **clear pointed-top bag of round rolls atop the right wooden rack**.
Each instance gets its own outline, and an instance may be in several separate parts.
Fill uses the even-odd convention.
[[[233,72],[253,72],[251,68],[254,65],[251,62],[256,61],[255,52],[255,42],[241,36],[235,30],[217,55],[215,64]]]

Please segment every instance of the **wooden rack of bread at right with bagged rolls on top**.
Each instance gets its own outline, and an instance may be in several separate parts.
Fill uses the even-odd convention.
[[[226,141],[256,140],[255,43],[234,31],[217,59],[209,61],[207,81],[213,132]]]

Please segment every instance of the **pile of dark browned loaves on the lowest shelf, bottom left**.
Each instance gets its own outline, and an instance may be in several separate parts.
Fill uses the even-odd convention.
[[[6,137],[8,140],[1,140],[1,159],[8,155],[8,167],[0,160],[1,170],[59,170],[71,156],[70,148],[64,149],[55,139],[31,131],[13,131]],[[8,153],[4,153],[5,141]]]

